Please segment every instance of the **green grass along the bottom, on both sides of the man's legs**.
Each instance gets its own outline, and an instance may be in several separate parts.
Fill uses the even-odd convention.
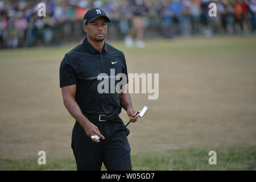
[[[208,152],[215,150],[217,164],[208,163]],[[190,148],[160,154],[131,155],[133,170],[255,170],[256,147]],[[37,158],[1,159],[1,170],[76,170],[75,159],[49,158],[39,165]],[[105,170],[102,165],[102,170]]]

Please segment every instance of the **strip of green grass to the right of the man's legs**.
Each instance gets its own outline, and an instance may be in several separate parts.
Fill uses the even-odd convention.
[[[208,152],[217,153],[217,164],[210,165]],[[217,148],[172,150],[159,155],[133,156],[134,170],[250,170],[256,148]]]

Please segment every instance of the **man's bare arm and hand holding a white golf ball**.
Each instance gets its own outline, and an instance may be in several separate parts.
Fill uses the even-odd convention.
[[[82,114],[82,111],[75,100],[76,95],[76,84],[70,86],[63,86],[61,88],[63,102],[69,113],[73,118],[80,123],[84,128],[86,135],[92,137],[93,135],[98,135],[101,139],[104,139],[104,136],[101,135],[98,127],[93,125],[85,116]],[[94,142],[100,142],[100,140],[93,139]]]

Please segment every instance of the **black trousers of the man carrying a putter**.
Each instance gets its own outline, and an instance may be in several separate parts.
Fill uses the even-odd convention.
[[[131,170],[130,144],[127,129],[121,118],[102,122],[86,116],[105,137],[99,143],[92,141],[84,128],[76,121],[72,131],[71,147],[75,155],[77,170],[101,170],[102,162],[107,170]]]

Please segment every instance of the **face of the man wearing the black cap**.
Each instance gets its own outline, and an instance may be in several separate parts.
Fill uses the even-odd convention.
[[[86,23],[82,27],[87,33],[87,36],[97,42],[104,41],[108,33],[107,21],[102,16],[93,20],[93,22]]]

